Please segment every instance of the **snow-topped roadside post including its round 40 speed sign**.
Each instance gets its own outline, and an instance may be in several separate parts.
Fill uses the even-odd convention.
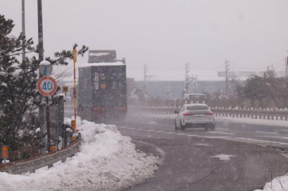
[[[51,76],[52,65],[48,61],[42,61],[39,65],[39,72],[44,75],[37,83],[38,92],[46,97],[46,131],[47,131],[47,150],[51,150],[51,122],[50,122],[50,109],[49,97],[57,91],[57,83]]]

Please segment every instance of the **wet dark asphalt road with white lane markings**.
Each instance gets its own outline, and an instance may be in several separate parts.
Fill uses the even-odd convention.
[[[155,177],[130,191],[255,190],[288,172],[287,157],[268,147],[274,144],[288,148],[288,139],[279,127],[218,122],[214,132],[176,132],[171,119],[147,118],[118,127],[140,150],[162,158]],[[232,156],[221,160],[217,155]]]

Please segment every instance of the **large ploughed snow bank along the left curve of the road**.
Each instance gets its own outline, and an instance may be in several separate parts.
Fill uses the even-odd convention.
[[[123,190],[152,177],[157,170],[159,159],[136,152],[131,139],[122,136],[115,125],[86,120],[77,123],[82,137],[77,155],[35,174],[0,173],[0,190]]]

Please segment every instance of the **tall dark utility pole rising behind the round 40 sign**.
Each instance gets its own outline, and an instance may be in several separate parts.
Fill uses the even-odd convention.
[[[42,22],[42,0],[37,0],[38,6],[38,41],[39,41],[39,62],[44,60],[44,48],[43,48],[43,22]],[[43,75],[39,72],[39,78]],[[44,99],[40,97],[41,102]],[[48,103],[47,103],[48,104]],[[39,106],[39,123],[40,123],[40,153],[46,153],[46,124],[45,124],[45,106],[40,104]]]

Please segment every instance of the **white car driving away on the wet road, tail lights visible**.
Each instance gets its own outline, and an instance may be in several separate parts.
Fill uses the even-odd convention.
[[[215,129],[213,111],[206,104],[184,104],[175,111],[175,129],[204,127],[205,130]]]

